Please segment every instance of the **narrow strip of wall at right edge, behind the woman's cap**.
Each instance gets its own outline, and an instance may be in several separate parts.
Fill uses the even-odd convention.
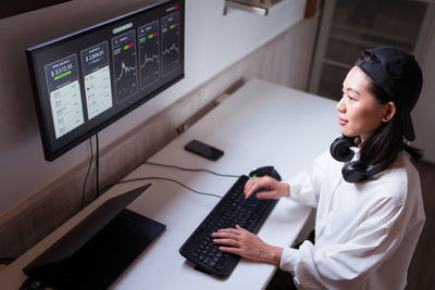
[[[435,163],[435,29],[431,33],[428,47],[421,62],[423,89],[412,111],[412,121],[415,146],[424,150],[424,160]]]

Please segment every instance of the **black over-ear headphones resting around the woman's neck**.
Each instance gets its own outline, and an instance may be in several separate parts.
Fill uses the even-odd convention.
[[[355,152],[350,149],[351,147],[356,147],[353,138],[343,136],[334,140],[330,152],[336,161],[346,162],[353,157]],[[370,166],[366,166],[363,161],[352,161],[343,166],[341,175],[346,181],[356,184],[369,179],[373,175],[384,171],[387,166],[388,164],[385,161]]]

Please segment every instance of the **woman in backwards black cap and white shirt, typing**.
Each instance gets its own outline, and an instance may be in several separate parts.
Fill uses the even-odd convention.
[[[365,50],[337,104],[344,137],[314,161],[312,174],[287,182],[251,178],[245,187],[247,198],[265,187],[257,198],[316,207],[315,242],[283,249],[236,226],[212,235],[220,250],[278,265],[301,289],[403,289],[425,220],[412,163],[421,154],[407,144],[415,138],[410,112],[421,87],[412,54]]]

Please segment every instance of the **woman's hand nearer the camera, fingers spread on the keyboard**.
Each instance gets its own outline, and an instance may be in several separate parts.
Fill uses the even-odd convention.
[[[224,228],[211,235],[214,243],[222,244],[222,252],[237,254],[253,261],[279,265],[283,248],[263,242],[257,235],[236,225],[235,228]]]

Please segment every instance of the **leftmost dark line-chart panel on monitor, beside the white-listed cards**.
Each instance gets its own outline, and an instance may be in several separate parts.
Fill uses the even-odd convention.
[[[135,30],[112,38],[116,102],[137,92]]]

